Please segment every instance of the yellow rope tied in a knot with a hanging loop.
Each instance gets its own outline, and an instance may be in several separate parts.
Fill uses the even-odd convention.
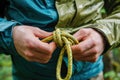
[[[59,29],[56,29],[56,31],[53,32],[52,36],[49,36],[45,39],[43,39],[43,42],[50,42],[54,41],[58,46],[62,47],[61,52],[59,54],[58,62],[57,62],[57,68],[56,68],[56,77],[57,80],[70,80],[72,76],[72,50],[71,45],[78,44],[78,41],[69,33],[65,31],[60,31]],[[61,78],[61,66],[62,66],[62,59],[64,56],[65,51],[68,55],[68,70],[67,75],[64,79]]]

